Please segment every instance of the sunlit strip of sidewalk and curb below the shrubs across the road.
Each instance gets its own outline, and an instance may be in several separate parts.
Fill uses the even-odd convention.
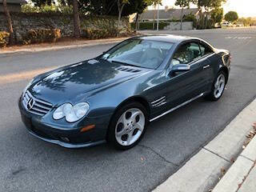
[[[0,49],[1,54],[14,54],[18,52],[38,52],[45,50],[62,50],[62,49],[72,49],[78,47],[85,46],[97,46],[97,45],[105,45],[110,43],[122,42],[123,40],[130,38],[104,38],[104,39],[95,39],[95,40],[75,40],[70,39],[69,41],[64,42],[56,42],[56,43],[40,43],[40,44],[32,44],[25,46],[10,46],[4,49]]]

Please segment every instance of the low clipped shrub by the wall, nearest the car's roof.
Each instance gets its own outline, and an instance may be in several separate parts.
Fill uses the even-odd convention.
[[[118,29],[82,29],[82,37],[90,39],[117,37],[118,34]]]

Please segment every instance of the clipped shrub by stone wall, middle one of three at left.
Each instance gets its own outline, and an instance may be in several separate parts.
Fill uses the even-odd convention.
[[[56,42],[61,36],[61,30],[58,29],[34,29],[29,30],[26,35],[22,37],[22,41],[24,44]]]

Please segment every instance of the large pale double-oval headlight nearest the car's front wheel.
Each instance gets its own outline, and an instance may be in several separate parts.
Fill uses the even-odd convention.
[[[84,117],[88,110],[89,104],[87,102],[79,102],[74,106],[70,103],[65,103],[54,111],[53,118],[58,120],[65,117],[67,122],[76,122]]]

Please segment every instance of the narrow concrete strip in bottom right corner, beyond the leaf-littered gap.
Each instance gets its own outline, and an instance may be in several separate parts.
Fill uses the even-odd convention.
[[[254,167],[256,162],[256,137],[252,139],[242,154],[230,167],[228,172],[224,175],[222,180],[218,182],[212,192],[236,192],[240,191],[239,188],[243,186],[244,181],[250,174],[250,170]],[[254,191],[256,189],[250,189]]]

